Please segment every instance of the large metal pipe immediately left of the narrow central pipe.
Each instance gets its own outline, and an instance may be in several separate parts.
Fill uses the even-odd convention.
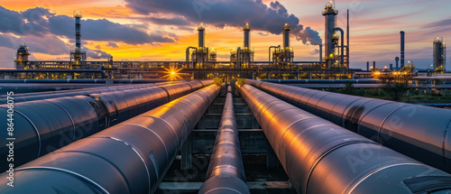
[[[219,94],[211,85],[71,143],[14,170],[5,193],[153,193]],[[20,181],[19,181],[20,180]]]

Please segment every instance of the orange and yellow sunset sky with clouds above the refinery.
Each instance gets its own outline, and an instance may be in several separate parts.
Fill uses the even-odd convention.
[[[22,42],[29,46],[31,60],[69,60],[75,47],[74,10],[83,14],[81,39],[89,60],[184,60],[185,49],[197,46],[198,23],[205,23],[207,47],[217,50],[218,60],[229,60],[231,49],[243,47],[244,23],[251,24],[255,60],[267,60],[268,47],[282,44],[284,23],[292,27],[295,60],[318,60],[325,26],[321,11],[327,2],[2,0],[0,67],[14,68]],[[406,32],[406,61],[428,68],[434,38],[451,42],[450,7],[449,0],[337,0],[343,29],[350,9],[351,68],[364,68],[367,60],[376,60],[378,67],[394,63],[400,55],[400,31]]]

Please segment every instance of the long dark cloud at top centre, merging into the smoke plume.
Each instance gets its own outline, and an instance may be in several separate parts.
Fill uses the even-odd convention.
[[[303,30],[299,18],[289,14],[278,1],[268,7],[262,0],[125,0],[126,6],[138,14],[168,14],[183,16],[190,23],[208,23],[216,27],[242,27],[251,23],[253,30],[281,34],[284,23],[291,26],[298,41],[320,44],[318,32]],[[319,42],[319,43],[318,43]]]

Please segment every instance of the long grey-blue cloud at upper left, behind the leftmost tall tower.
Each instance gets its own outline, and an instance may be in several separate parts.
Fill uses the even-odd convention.
[[[41,7],[19,13],[0,6],[0,18],[2,18],[0,32],[36,36],[45,36],[52,33],[69,39],[75,38],[74,18],[67,15],[51,14],[48,9]],[[175,42],[176,37],[174,36],[167,36],[162,32],[149,34],[141,28],[142,26],[113,23],[106,19],[81,21],[82,38],[88,41],[124,42],[133,45]]]

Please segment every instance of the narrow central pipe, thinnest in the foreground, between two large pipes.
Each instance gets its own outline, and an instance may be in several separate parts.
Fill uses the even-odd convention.
[[[199,194],[251,193],[245,183],[232,88],[227,88],[221,124],[216,135],[207,177]]]

